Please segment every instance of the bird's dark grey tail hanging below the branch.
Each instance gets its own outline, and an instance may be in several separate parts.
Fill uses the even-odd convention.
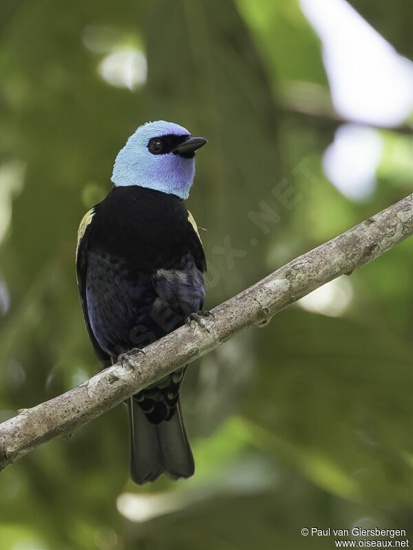
[[[133,397],[128,401],[128,409],[132,480],[144,485],[155,481],[161,474],[173,480],[191,477],[195,464],[182,420],[180,400],[171,419],[160,424],[149,422]]]

